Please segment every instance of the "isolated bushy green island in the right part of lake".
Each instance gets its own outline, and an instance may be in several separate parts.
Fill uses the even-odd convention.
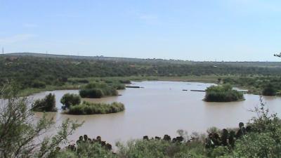
[[[243,93],[234,90],[229,84],[208,87],[204,98],[204,101],[207,102],[233,102],[241,100],[244,100]]]

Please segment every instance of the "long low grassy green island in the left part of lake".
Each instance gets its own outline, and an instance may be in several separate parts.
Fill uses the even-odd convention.
[[[89,103],[84,101],[81,105],[71,106],[67,114],[110,114],[125,110],[122,103]]]

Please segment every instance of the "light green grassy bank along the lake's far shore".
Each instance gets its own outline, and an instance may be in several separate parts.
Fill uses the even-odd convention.
[[[29,96],[32,93],[39,93],[41,91],[54,91],[63,89],[79,89],[81,86],[85,86],[91,82],[105,81],[105,83],[117,83],[122,82],[123,84],[129,84],[129,81],[190,81],[190,82],[202,82],[202,83],[226,83],[232,84],[235,87],[248,89],[249,93],[261,94],[263,89],[251,84],[254,81],[260,81],[257,77],[239,77],[233,75],[220,76],[220,75],[203,75],[203,76],[183,76],[183,77],[141,77],[141,76],[131,76],[131,77],[84,77],[84,78],[70,78],[67,83],[63,86],[46,86],[46,88],[26,88],[20,92],[20,96]],[[266,81],[266,79],[263,79]],[[259,84],[259,83],[257,83]]]

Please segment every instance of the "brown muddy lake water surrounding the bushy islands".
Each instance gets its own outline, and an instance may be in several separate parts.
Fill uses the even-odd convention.
[[[87,134],[90,138],[101,136],[103,140],[114,145],[117,141],[125,142],[143,136],[177,136],[176,131],[183,129],[205,133],[211,126],[218,128],[237,127],[240,121],[247,122],[255,116],[254,107],[259,105],[259,96],[246,94],[246,100],[232,103],[206,103],[204,92],[192,92],[191,89],[204,90],[213,84],[179,81],[142,81],[133,82],[132,86],[144,88],[126,88],[119,91],[122,96],[101,99],[86,99],[93,102],[121,102],[126,110],[116,114],[69,115],[50,112],[56,124],[64,119],[85,121],[70,140]],[[188,91],[182,91],[187,89]],[[48,93],[55,93],[56,106],[61,108],[60,98],[65,93],[79,93],[78,90],[46,91],[31,96],[33,99],[44,98]],[[281,98],[263,97],[270,112],[280,116]],[[35,114],[37,117],[41,112]]]

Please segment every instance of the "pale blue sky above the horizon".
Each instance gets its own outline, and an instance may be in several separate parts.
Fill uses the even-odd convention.
[[[0,0],[5,52],[280,61],[280,0]]]

